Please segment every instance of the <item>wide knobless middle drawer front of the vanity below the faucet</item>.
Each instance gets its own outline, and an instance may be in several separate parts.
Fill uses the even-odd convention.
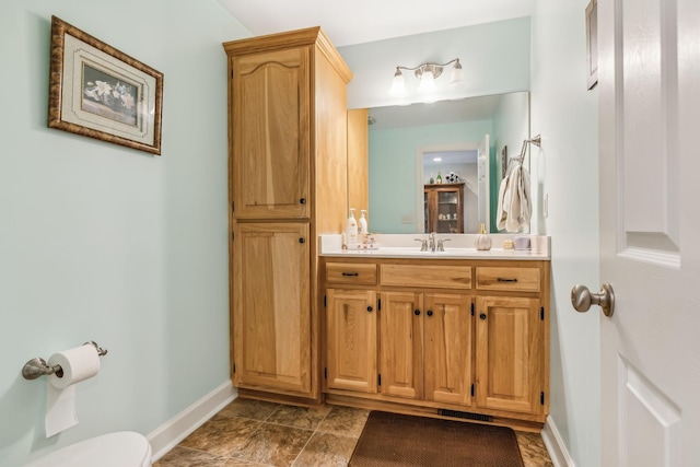
[[[471,289],[470,266],[382,265],[382,285]]]

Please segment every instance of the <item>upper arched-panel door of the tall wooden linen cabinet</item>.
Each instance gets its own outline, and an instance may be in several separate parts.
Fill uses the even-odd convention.
[[[233,58],[233,201],[237,219],[308,218],[306,47]]]

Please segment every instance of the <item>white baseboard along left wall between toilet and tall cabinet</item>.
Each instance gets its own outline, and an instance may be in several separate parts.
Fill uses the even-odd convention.
[[[238,392],[228,381],[149,434],[148,440],[153,450],[152,462],[158,462],[236,397]]]

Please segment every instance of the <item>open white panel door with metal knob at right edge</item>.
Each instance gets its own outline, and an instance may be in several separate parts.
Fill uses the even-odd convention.
[[[598,22],[602,465],[700,466],[700,2]]]

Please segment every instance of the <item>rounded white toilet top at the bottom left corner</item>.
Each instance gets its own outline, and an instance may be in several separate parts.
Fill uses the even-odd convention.
[[[81,441],[24,467],[151,467],[151,445],[140,433],[119,431]]]

